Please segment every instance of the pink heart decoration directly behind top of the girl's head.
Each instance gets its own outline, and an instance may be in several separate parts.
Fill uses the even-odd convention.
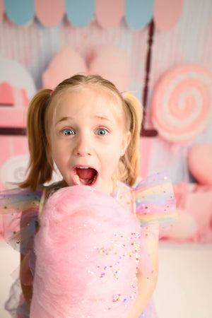
[[[95,47],[85,61],[75,49],[70,46],[64,47],[42,74],[43,88],[54,89],[61,81],[76,73],[98,74],[112,81],[120,91],[124,91],[130,81],[129,57],[119,47],[104,45]]]

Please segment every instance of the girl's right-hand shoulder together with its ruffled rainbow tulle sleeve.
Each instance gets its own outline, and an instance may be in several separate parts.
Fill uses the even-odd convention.
[[[160,236],[177,220],[176,202],[167,172],[158,172],[135,187],[117,182],[113,196],[140,220],[141,226],[159,225]]]

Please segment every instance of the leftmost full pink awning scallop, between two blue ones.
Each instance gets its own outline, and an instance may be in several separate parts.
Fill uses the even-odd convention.
[[[46,27],[61,22],[65,14],[65,0],[35,0],[35,15]]]

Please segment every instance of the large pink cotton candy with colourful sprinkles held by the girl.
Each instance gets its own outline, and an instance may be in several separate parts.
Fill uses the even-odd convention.
[[[35,236],[30,317],[127,317],[136,298],[139,221],[88,186],[53,194]]]

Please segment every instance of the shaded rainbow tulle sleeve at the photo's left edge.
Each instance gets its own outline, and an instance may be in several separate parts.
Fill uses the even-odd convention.
[[[41,196],[42,188],[37,191],[15,188],[0,192],[4,239],[22,254],[33,247]]]

